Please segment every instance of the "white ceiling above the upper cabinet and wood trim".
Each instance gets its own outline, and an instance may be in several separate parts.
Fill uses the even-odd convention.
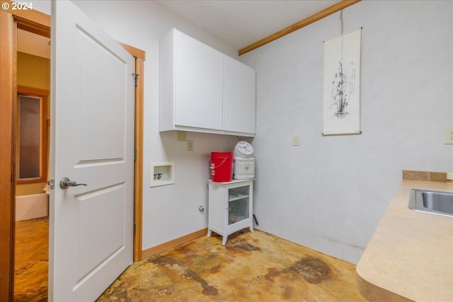
[[[338,0],[158,0],[157,3],[241,50]]]

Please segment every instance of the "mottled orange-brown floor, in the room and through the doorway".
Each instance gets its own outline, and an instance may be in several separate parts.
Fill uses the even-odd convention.
[[[47,301],[48,220],[16,223],[16,302]],[[355,266],[268,233],[213,234],[132,264],[111,301],[364,302]]]

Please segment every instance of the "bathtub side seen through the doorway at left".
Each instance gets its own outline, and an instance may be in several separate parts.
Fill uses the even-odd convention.
[[[49,214],[49,195],[16,196],[16,221],[45,217]]]

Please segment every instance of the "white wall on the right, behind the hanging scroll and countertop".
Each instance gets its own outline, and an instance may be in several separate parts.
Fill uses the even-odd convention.
[[[453,124],[453,2],[361,1],[343,11],[345,32],[363,27],[362,134],[322,137],[323,40],[340,34],[339,17],[241,61],[257,72],[259,228],[357,262],[401,170],[453,170],[443,143]]]

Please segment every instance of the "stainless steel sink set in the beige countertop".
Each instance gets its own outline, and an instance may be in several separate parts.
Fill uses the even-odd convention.
[[[412,189],[408,208],[430,214],[453,216],[453,193]]]

